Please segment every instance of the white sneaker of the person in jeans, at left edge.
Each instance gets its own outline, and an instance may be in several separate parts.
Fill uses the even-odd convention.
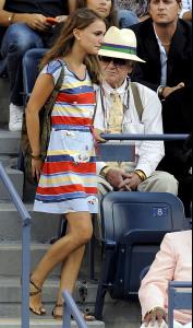
[[[22,122],[23,122],[23,106],[16,106],[14,104],[10,104],[10,122],[9,130],[12,132],[21,132],[22,131]]]

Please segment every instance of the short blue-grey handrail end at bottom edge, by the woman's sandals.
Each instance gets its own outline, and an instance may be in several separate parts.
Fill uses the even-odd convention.
[[[62,328],[70,328],[71,327],[71,316],[73,316],[75,323],[77,324],[79,328],[88,328],[85,320],[83,319],[83,316],[81,312],[77,308],[77,305],[75,304],[73,297],[70,295],[70,293],[65,290],[63,293],[63,326]]]

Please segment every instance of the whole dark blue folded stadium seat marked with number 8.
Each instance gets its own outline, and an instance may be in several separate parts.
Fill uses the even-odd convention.
[[[136,297],[166,233],[184,230],[183,204],[156,192],[109,192],[101,200],[102,270],[95,316],[102,318],[107,291],[113,298]]]

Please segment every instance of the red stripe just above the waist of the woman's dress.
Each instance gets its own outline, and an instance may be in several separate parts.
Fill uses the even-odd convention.
[[[53,116],[51,118],[52,125],[70,125],[70,126],[91,126],[93,119],[70,116]]]

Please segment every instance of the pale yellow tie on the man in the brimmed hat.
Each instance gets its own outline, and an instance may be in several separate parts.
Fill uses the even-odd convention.
[[[121,133],[123,121],[123,104],[119,93],[112,93],[111,95],[112,106],[109,113],[108,132]]]

